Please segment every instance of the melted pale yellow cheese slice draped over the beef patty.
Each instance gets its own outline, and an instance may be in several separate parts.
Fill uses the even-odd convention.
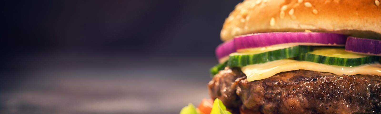
[[[290,59],[275,60],[272,62],[247,65],[241,68],[246,74],[247,81],[266,79],[277,73],[293,70],[311,70],[328,72],[336,75],[373,74],[381,76],[381,64],[365,64],[356,67],[341,67],[335,65],[325,65],[307,61],[297,61]]]

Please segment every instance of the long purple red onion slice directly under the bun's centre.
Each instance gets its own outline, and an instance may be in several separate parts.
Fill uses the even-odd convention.
[[[287,43],[305,46],[344,46],[346,39],[346,35],[335,33],[272,32],[236,36],[234,44],[237,50]]]

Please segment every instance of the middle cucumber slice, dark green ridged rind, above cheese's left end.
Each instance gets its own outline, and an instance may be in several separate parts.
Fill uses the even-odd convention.
[[[311,52],[312,46],[293,46],[259,54],[232,53],[229,55],[227,66],[243,67],[251,64],[266,63],[274,60],[287,59],[299,56],[300,54]]]

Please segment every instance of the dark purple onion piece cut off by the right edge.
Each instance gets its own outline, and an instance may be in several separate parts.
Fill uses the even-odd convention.
[[[345,45],[345,51],[381,56],[381,40],[356,38],[349,36]]]

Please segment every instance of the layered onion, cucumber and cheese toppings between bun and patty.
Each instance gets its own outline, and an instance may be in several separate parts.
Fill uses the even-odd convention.
[[[292,70],[381,75],[380,57],[376,56],[381,55],[380,51],[381,40],[347,38],[335,33],[256,33],[236,36],[219,45],[216,56],[220,64],[211,68],[211,73],[225,67],[241,67],[248,81]]]

